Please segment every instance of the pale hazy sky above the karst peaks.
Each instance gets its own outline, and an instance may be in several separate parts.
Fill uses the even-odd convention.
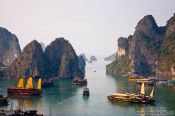
[[[21,48],[64,37],[77,54],[108,56],[143,16],[152,14],[161,26],[174,12],[175,0],[0,0],[0,26],[16,34]]]

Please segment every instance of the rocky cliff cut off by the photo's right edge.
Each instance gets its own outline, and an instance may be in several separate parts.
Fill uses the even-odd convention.
[[[175,14],[167,21],[159,57],[159,73],[167,78],[175,77]]]

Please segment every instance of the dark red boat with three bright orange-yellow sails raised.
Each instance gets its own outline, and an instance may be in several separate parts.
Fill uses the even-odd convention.
[[[41,78],[38,80],[37,88],[33,88],[33,79],[29,77],[24,87],[24,79],[20,78],[17,88],[8,88],[9,95],[41,95]]]

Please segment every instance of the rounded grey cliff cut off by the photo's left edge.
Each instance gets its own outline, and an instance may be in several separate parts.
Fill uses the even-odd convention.
[[[7,29],[0,27],[0,62],[9,66],[21,53],[18,38]]]

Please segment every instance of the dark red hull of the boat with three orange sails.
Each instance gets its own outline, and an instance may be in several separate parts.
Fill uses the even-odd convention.
[[[7,93],[9,95],[41,95],[39,89],[20,89],[20,88],[8,88]]]

